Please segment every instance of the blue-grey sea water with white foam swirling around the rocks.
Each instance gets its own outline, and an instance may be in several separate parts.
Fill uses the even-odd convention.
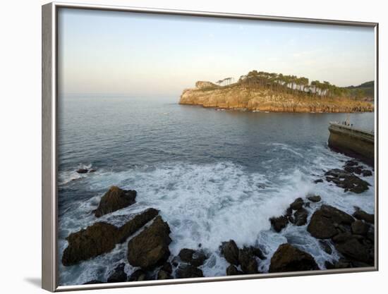
[[[177,104],[178,97],[61,97],[59,113],[59,259],[66,236],[95,221],[117,226],[147,207],[160,209],[171,227],[171,255],[183,247],[207,250],[205,276],[224,276],[222,241],[260,245],[269,259],[281,243],[310,252],[320,267],[327,255],[305,226],[270,230],[269,217],[282,214],[308,193],[347,212],[373,212],[372,188],[363,195],[314,184],[324,171],[348,159],[327,148],[329,121],[346,114],[276,114],[219,111]],[[351,114],[351,123],[373,129],[374,114]],[[79,175],[80,167],[97,172]],[[96,219],[91,213],[111,185],[138,191],[137,203]],[[313,204],[311,211],[315,209]],[[107,279],[126,262],[126,245],[107,255],[59,269],[62,285]],[[133,268],[126,262],[126,271]]]

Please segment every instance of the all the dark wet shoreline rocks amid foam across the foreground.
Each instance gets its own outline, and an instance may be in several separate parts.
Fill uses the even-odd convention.
[[[362,193],[370,185],[359,175],[372,176],[372,171],[351,160],[346,161],[344,169],[325,171],[314,183],[319,185],[327,181],[343,188],[344,192],[358,194],[353,197],[363,197]],[[98,219],[104,214],[134,204],[136,197],[135,190],[112,186],[102,196],[97,209],[91,213]],[[259,268],[265,259],[270,260],[269,273],[373,267],[374,220],[373,214],[358,207],[354,207],[353,214],[348,214],[325,204],[325,199],[320,195],[304,195],[296,198],[284,214],[268,220],[271,229],[280,233],[287,226],[300,226],[318,240],[327,255],[332,256],[336,252],[339,259],[328,259],[325,267],[320,267],[312,255],[292,243],[279,245],[274,254],[269,255],[260,244],[238,247],[234,240],[225,240],[219,244],[219,255],[229,263],[225,272],[227,276],[262,274]],[[170,233],[169,224],[154,208],[145,209],[120,227],[97,221],[68,235],[68,246],[63,251],[61,262],[63,266],[71,267],[107,254],[117,244],[126,243],[126,262],[107,264],[111,271],[106,280],[92,280],[85,284],[203,277],[202,266],[213,252],[202,249],[198,244],[196,248],[181,248],[178,255],[173,256],[169,250],[173,241]],[[130,274],[125,271],[127,262],[135,268]]]

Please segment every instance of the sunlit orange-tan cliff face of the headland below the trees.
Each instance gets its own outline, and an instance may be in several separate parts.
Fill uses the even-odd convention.
[[[298,97],[243,85],[219,87],[212,82],[197,82],[194,89],[183,90],[179,104],[222,109],[248,109],[272,112],[362,112],[373,111],[373,104],[344,97]]]

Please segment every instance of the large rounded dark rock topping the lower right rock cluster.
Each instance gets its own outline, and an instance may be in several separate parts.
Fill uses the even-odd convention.
[[[336,228],[338,224],[344,223],[350,225],[353,221],[352,216],[335,207],[324,204],[311,216],[307,231],[315,238],[332,238],[338,233]]]

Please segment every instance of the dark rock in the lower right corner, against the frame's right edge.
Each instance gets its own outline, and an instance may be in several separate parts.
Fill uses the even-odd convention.
[[[373,262],[368,247],[361,244],[356,238],[350,238],[343,243],[336,243],[335,247],[345,257],[368,264],[372,264]]]

